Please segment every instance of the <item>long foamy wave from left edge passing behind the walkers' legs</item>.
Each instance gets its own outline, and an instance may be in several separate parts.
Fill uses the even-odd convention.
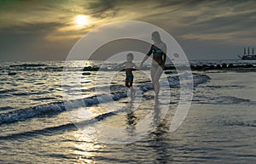
[[[193,74],[193,77],[195,79],[194,81],[195,87],[200,83],[207,82],[210,79],[209,76],[201,75],[201,74]],[[169,81],[170,87],[179,86],[178,76],[168,77],[168,81]],[[137,87],[140,88],[140,90],[143,93],[153,89],[152,84],[140,85]],[[28,118],[32,118],[36,116],[58,114],[66,110],[65,105],[68,105],[69,107],[73,107],[73,108],[80,107],[79,105],[81,105],[80,103],[81,101],[84,102],[84,105],[90,106],[90,105],[97,105],[99,103],[104,103],[112,100],[117,101],[125,97],[127,97],[127,93],[115,91],[110,95],[102,94],[102,95],[97,95],[97,96],[85,98],[85,99],[75,99],[75,100],[70,100],[65,102],[64,101],[55,102],[55,103],[50,103],[48,105],[38,105],[38,106],[26,108],[26,109],[12,110],[7,113],[0,114],[0,125],[8,122],[23,121]]]

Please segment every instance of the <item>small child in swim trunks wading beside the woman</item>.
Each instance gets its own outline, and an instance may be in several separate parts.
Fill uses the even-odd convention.
[[[124,63],[120,64],[120,65],[125,65],[125,74],[126,74],[126,78],[125,78],[125,86],[127,88],[131,89],[131,99],[133,99],[134,94],[135,94],[135,89],[132,88],[132,82],[133,82],[133,74],[132,74],[132,70],[133,68],[137,68],[137,65],[135,65],[132,60],[133,60],[134,56],[133,54],[127,54],[126,59],[127,61],[125,61]]]

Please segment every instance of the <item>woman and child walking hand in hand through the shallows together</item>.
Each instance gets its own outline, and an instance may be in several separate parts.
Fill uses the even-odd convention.
[[[139,69],[143,67],[143,63],[148,59],[148,57],[153,54],[152,64],[150,67],[150,75],[151,80],[153,82],[155,100],[158,101],[159,92],[160,92],[160,76],[162,75],[165,63],[166,63],[166,43],[162,42],[160,38],[160,33],[158,31],[154,31],[152,33],[152,40],[154,44],[151,45],[148,54],[144,57],[140,66],[137,67],[132,60],[134,59],[133,54],[126,55],[126,61],[120,65],[125,65],[125,86],[131,89],[131,99],[135,96],[135,89],[132,87],[133,83],[133,74],[132,71],[134,68]]]

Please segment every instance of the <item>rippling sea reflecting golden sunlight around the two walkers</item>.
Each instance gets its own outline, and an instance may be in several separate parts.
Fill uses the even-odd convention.
[[[188,113],[170,131],[183,103],[177,71],[161,76],[156,101],[149,70],[134,71],[131,99],[125,72],[102,65],[0,63],[0,163],[255,163],[255,70],[191,72]]]

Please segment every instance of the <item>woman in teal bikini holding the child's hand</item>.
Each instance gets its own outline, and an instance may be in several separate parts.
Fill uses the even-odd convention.
[[[158,100],[160,91],[159,80],[166,63],[166,43],[161,41],[160,33],[158,31],[152,33],[152,40],[154,41],[154,44],[149,49],[148,54],[145,56],[140,66],[142,67],[148,57],[153,54],[150,74],[154,86],[155,99]]]

